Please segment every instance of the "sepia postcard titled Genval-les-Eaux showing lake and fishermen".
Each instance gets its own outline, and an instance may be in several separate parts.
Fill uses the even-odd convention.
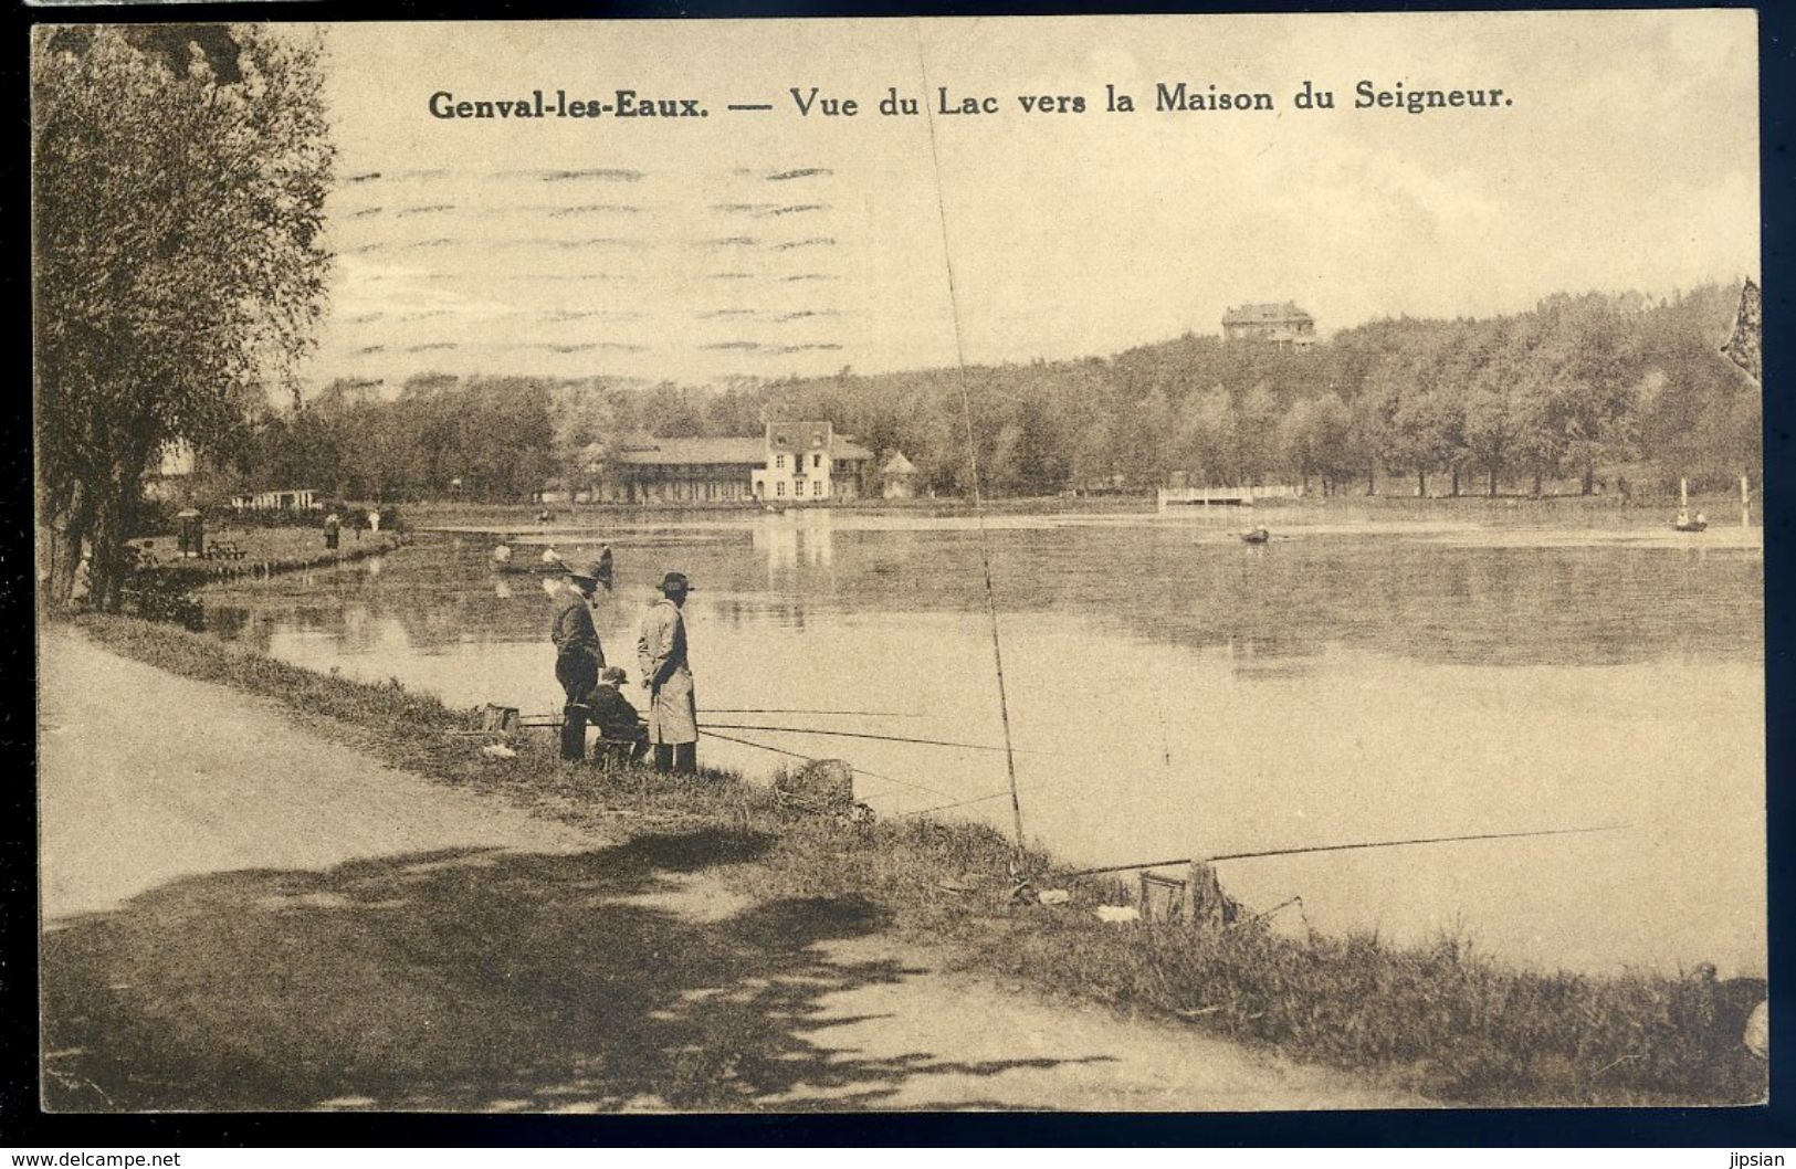
[[[40,23],[40,1104],[1769,1092],[1753,11]]]

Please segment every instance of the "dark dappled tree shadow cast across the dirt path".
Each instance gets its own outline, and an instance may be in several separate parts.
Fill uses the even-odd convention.
[[[817,946],[880,928],[866,901],[779,900],[709,923],[625,901],[763,849],[695,831],[171,882],[45,934],[45,1103],[742,1110],[790,1106],[770,1097],[803,1086],[855,1108],[920,1074],[1060,1063],[815,1045],[855,1022],[824,1016],[823,997],[905,973]]]

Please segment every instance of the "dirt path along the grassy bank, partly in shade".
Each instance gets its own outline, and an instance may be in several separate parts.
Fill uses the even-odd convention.
[[[753,842],[533,819],[273,704],[41,645],[47,1103],[88,1108],[1415,1104],[939,970]]]

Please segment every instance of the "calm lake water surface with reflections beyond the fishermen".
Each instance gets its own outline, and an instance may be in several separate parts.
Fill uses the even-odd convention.
[[[860,517],[857,517],[858,521]],[[668,569],[700,711],[1000,742],[977,535],[830,514],[603,532],[594,602],[636,675]],[[1281,532],[1284,535],[1284,532]],[[1079,862],[1629,822],[1625,833],[1232,862],[1255,905],[1322,928],[1462,925],[1512,959],[1764,968],[1762,560],[1756,548],[1297,530],[1250,548],[1194,524],[1006,523],[991,571],[1031,835]],[[593,548],[600,533],[587,541]],[[557,546],[582,555],[578,539]],[[399,677],[456,704],[560,702],[550,603],[487,541],[379,571],[219,593],[210,621],[302,664]],[[541,578],[553,591],[553,578]],[[1008,821],[1000,754],[731,731],[846,756],[882,815],[968,803]],[[709,740],[709,761],[779,756]],[[927,790],[925,790],[927,788]]]

